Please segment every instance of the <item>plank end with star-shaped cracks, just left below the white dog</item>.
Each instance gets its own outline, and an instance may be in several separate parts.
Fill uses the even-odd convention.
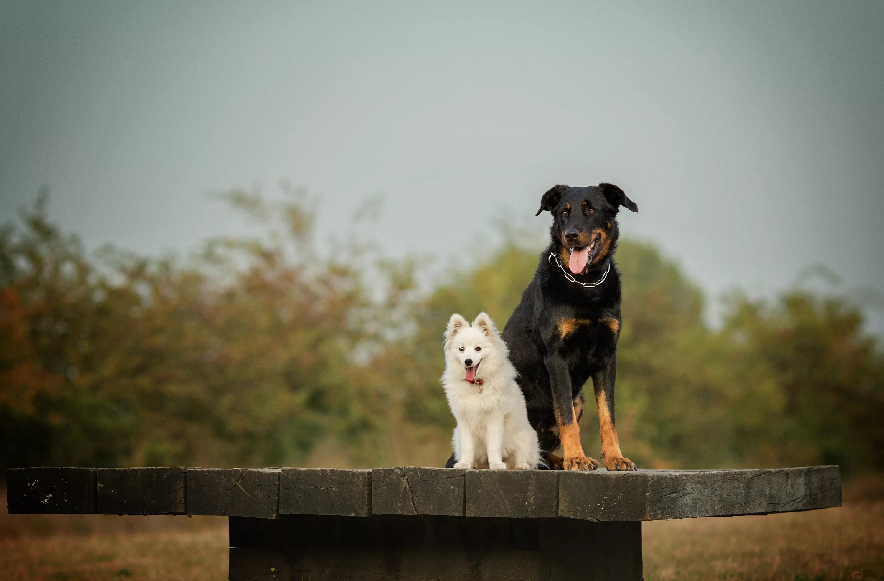
[[[464,472],[453,468],[376,468],[371,504],[376,515],[464,515]]]

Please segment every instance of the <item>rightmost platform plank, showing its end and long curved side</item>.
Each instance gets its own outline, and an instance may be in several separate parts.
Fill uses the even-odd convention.
[[[561,472],[559,515],[595,521],[731,517],[841,506],[837,466]]]

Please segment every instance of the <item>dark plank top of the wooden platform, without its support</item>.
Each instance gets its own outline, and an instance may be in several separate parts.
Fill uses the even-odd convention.
[[[644,521],[841,505],[837,466],[638,472],[15,468],[10,513],[437,515]]]

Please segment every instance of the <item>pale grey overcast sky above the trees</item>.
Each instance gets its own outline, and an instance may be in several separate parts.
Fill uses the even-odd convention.
[[[325,233],[381,192],[386,252],[458,260],[607,181],[713,298],[815,263],[880,290],[881,31],[871,1],[0,0],[0,219],[49,185],[89,247],[187,251],[244,228],[207,192],[286,178]]]

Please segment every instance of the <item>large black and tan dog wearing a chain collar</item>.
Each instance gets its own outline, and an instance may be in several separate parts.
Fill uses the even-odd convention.
[[[621,281],[613,253],[621,206],[638,211],[636,203],[611,184],[556,185],[544,194],[537,215],[552,213],[552,242],[504,328],[528,419],[551,468],[598,467],[583,454],[577,426],[583,413],[583,383],[591,377],[605,466],[636,470],[621,453],[613,418],[621,324]],[[564,457],[553,454],[560,445]]]

